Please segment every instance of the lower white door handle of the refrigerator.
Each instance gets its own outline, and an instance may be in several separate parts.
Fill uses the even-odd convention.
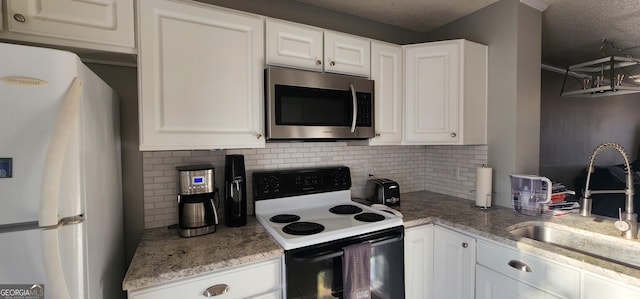
[[[47,281],[47,294],[50,298],[70,299],[69,288],[62,270],[60,256],[59,227],[42,229],[42,257],[44,274]]]

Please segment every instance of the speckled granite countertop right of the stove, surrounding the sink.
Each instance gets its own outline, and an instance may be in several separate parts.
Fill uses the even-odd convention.
[[[586,233],[593,234],[594,238],[602,237],[598,234],[605,235],[605,238],[611,242],[624,243],[629,248],[634,248],[637,252],[640,249],[640,241],[626,240],[620,237],[620,232],[614,226],[615,219],[600,216],[582,217],[578,214],[527,216],[515,213],[510,208],[500,206],[483,210],[476,207],[473,201],[428,191],[403,193],[400,203],[399,207],[394,208],[404,215],[405,227],[427,223],[447,225],[463,232],[469,232],[501,244],[516,247],[523,252],[600,274],[618,282],[640,286],[640,269],[598,259],[528,238],[517,237],[508,231],[528,224],[562,225],[564,228],[586,231]],[[583,249],[587,249],[586,247],[590,246],[590,244],[582,245],[584,246],[582,247]]]

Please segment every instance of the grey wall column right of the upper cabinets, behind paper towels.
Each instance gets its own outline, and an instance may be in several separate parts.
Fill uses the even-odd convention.
[[[542,14],[502,0],[443,26],[430,40],[489,46],[488,162],[494,202],[511,206],[509,174],[538,173]]]

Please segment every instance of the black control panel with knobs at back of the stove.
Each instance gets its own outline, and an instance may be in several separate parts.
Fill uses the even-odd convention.
[[[253,195],[256,200],[349,190],[349,167],[323,167],[277,170],[253,173]]]

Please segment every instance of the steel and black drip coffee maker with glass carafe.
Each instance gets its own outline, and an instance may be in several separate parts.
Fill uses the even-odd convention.
[[[210,164],[178,166],[178,235],[194,237],[216,231],[215,168]]]

